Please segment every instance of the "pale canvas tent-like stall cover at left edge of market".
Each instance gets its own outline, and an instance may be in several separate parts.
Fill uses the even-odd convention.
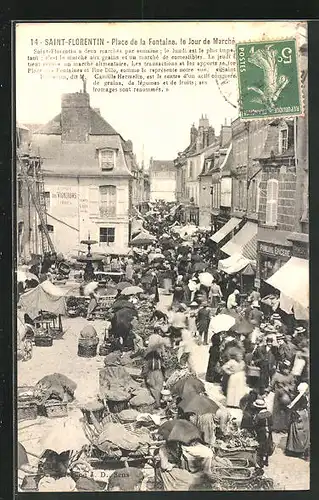
[[[40,311],[52,314],[66,315],[65,292],[50,281],[40,283],[20,297],[19,306],[31,319],[36,318]]]

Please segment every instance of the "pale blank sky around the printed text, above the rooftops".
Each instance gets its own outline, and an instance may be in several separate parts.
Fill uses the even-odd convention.
[[[79,92],[81,82],[75,80],[40,79],[28,74],[27,55],[30,39],[72,37],[180,38],[235,37],[236,41],[260,40],[293,36],[303,28],[295,22],[244,23],[39,23],[20,24],[16,35],[16,116],[18,123],[44,124],[59,114],[61,95]],[[107,34],[107,35],[106,35]],[[106,94],[93,93],[88,77],[87,91],[92,107],[100,108],[101,115],[125,140],[133,142],[139,162],[149,158],[173,160],[179,151],[189,145],[193,123],[198,126],[202,114],[207,115],[216,135],[225,119],[237,117],[237,110],[228,104],[216,83],[204,87],[178,87],[166,93]],[[227,88],[227,97],[236,104],[237,86]]]

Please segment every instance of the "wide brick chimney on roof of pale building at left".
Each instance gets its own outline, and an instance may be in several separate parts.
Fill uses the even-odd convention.
[[[76,92],[62,95],[61,127],[63,142],[87,142],[89,140],[89,94]]]

